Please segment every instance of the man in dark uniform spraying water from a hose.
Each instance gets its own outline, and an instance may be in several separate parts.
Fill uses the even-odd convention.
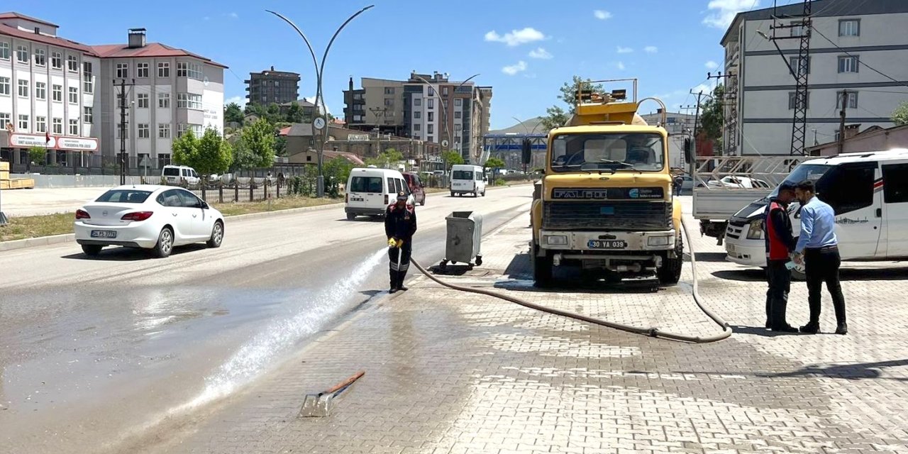
[[[404,277],[410,268],[410,253],[413,251],[413,233],[416,233],[416,209],[407,204],[407,193],[398,192],[396,203],[385,211],[385,235],[388,236],[388,258],[390,259],[390,293],[406,291]]]

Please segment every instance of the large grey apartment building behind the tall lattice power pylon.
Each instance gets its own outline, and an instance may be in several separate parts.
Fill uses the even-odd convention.
[[[844,103],[846,123],[887,128],[908,100],[908,2],[814,0],[812,28],[799,24],[803,4],[765,8],[735,17],[725,47],[725,154],[789,154],[800,39],[810,33],[805,145],[836,140]],[[775,18],[774,18],[775,16]],[[873,68],[873,69],[872,69]],[[874,71],[875,70],[875,71]]]

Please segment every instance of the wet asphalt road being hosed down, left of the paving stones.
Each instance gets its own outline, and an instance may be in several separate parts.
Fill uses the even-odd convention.
[[[531,198],[528,185],[429,196],[414,258],[443,258],[449,212],[481,213],[489,233]],[[0,254],[0,452],[111,448],[174,410],[229,399],[387,289],[384,242],[381,222],[332,208],[228,220],[221,249],[164,260],[124,249],[91,260],[74,243]]]

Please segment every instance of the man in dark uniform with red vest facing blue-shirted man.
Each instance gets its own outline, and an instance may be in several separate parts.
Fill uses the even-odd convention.
[[[792,271],[785,263],[795,251],[797,240],[792,236],[792,222],[788,218],[788,203],[795,200],[795,186],[782,183],[779,195],[766,208],[763,229],[766,239],[766,328],[780,332],[797,332],[785,321],[788,292],[791,291]]]

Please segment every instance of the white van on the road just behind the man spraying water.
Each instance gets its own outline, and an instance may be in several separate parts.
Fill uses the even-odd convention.
[[[347,220],[357,216],[384,216],[388,205],[397,201],[398,192],[407,194],[407,203],[413,204],[413,194],[403,175],[396,170],[356,168],[347,180]]]

